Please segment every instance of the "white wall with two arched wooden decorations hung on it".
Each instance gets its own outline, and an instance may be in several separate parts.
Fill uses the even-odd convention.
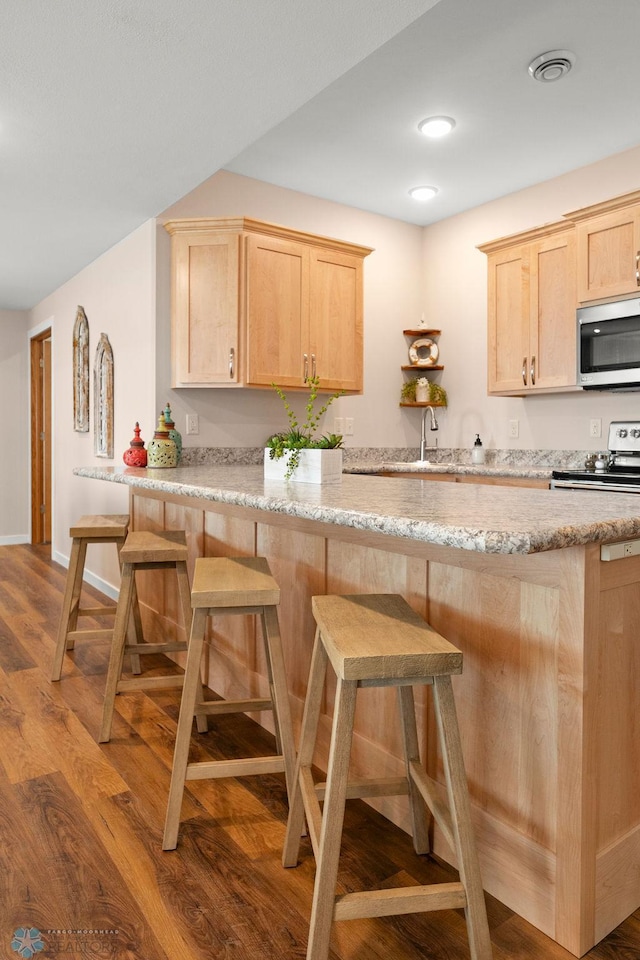
[[[36,327],[53,318],[52,556],[66,564],[69,527],[84,513],[128,513],[128,488],[74,477],[76,466],[122,464],[136,420],[150,439],[155,424],[155,221],[148,221],[31,311]],[[90,430],[73,429],[73,325],[78,305],[89,320]],[[100,334],[114,357],[114,457],[93,453],[93,362]],[[108,592],[119,582],[115,549],[90,547],[88,568]]]

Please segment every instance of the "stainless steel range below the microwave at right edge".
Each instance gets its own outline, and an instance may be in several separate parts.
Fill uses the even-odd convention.
[[[640,493],[640,420],[615,420],[609,426],[609,450],[584,470],[554,470],[552,487]]]

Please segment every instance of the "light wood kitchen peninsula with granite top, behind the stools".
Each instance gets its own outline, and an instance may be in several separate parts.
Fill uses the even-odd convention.
[[[192,559],[268,558],[297,723],[310,597],[403,594],[464,653],[454,689],[485,888],[576,956],[640,905],[640,557],[600,549],[640,538],[639,499],[352,475],[287,485],[254,466],[74,473],[128,484],[133,528],[186,530]],[[175,633],[171,584],[146,577],[147,622]],[[213,629],[209,686],[253,695],[264,666],[252,627]],[[356,776],[402,772],[392,693],[363,692]],[[425,763],[442,779],[428,691],[417,699]],[[380,808],[408,828],[401,800]],[[434,850],[452,861],[437,833]]]

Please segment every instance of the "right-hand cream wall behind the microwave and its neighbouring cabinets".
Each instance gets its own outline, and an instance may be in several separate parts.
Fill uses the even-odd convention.
[[[550,394],[526,399],[487,396],[487,264],[476,246],[560,220],[563,214],[640,187],[640,147],[503,197],[424,231],[424,303],[429,323],[442,328],[442,383],[449,409],[440,418],[441,443],[468,447],[479,432],[486,446],[512,449],[607,449],[612,420],[640,419],[640,393]],[[591,440],[589,420],[602,418]],[[520,436],[507,436],[508,421]]]

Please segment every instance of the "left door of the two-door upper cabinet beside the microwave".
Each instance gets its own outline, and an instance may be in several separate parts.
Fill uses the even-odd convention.
[[[488,260],[488,392],[527,392],[529,385],[529,261],[527,247]]]

